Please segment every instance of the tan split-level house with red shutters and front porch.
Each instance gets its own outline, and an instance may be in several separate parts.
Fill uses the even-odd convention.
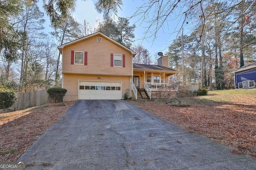
[[[167,57],[158,65],[133,64],[136,53],[101,32],[58,46],[62,54],[64,101],[151,98],[154,91],[170,87]]]

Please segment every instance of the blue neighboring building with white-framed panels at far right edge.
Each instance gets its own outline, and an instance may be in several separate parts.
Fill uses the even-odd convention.
[[[233,73],[235,78],[235,89],[256,88],[256,62],[246,64],[235,70]]]

